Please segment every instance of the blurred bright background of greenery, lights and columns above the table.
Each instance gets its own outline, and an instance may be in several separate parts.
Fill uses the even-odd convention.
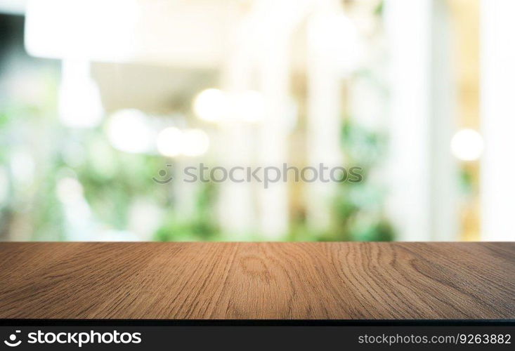
[[[0,240],[515,240],[514,12],[0,0]],[[364,180],[152,180],[200,162]]]

